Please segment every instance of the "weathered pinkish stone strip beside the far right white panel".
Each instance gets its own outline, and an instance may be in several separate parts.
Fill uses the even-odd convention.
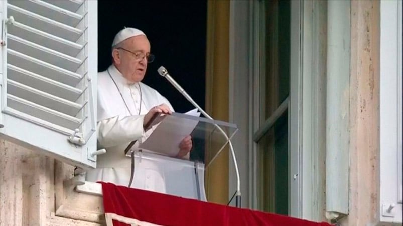
[[[378,215],[379,7],[351,1],[350,212],[343,225],[369,225]]]

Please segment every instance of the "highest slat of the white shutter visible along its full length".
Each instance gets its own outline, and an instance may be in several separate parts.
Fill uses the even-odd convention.
[[[35,27],[38,30],[51,33],[69,41],[77,41],[83,31],[63,23],[51,20],[25,9],[8,4],[8,14],[12,14],[15,21],[24,25]]]

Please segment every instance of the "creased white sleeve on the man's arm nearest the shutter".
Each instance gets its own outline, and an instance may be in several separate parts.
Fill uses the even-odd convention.
[[[96,131],[99,144],[108,148],[141,138],[144,134],[144,116],[115,116],[98,121]]]

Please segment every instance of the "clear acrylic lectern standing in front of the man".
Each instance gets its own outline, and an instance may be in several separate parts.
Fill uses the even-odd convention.
[[[175,112],[158,116],[154,124],[151,135],[126,153],[133,152],[135,159],[132,187],[150,190],[144,181],[152,170],[162,176],[167,194],[206,200],[204,170],[236,133],[236,125]],[[187,135],[193,141],[190,158],[178,159],[179,143]]]

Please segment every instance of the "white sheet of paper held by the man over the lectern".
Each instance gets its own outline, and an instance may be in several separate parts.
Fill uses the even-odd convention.
[[[200,116],[197,109],[185,114]],[[139,148],[175,157],[179,152],[180,142],[192,133],[198,122],[198,120],[166,116],[147,140],[139,145]]]

